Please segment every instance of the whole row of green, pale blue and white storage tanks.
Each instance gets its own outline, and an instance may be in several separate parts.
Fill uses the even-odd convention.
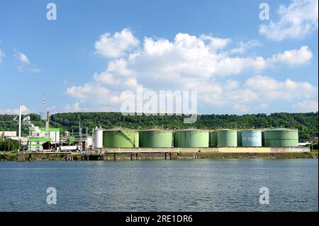
[[[298,147],[298,130],[94,130],[94,147]]]

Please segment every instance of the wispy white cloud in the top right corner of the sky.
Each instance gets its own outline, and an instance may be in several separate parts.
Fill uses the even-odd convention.
[[[293,0],[281,5],[278,14],[278,22],[259,26],[260,34],[272,40],[299,39],[318,30],[318,0]]]

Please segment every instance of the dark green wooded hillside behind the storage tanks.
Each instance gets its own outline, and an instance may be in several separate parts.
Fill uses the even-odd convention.
[[[26,116],[26,115],[25,115]],[[30,120],[34,125],[45,126],[45,121],[40,120],[40,115],[30,114]],[[125,128],[145,129],[163,127],[170,129],[181,128],[296,128],[301,139],[309,139],[318,135],[317,113],[272,113],[255,115],[198,115],[196,123],[185,124],[184,115],[122,115],[121,113],[57,113],[51,115],[50,126],[61,128],[62,131],[79,131],[79,121],[82,128],[91,131],[96,126],[113,128],[117,126]],[[0,115],[0,131],[16,130],[17,121],[15,115]],[[27,126],[23,126],[23,135],[28,134]]]

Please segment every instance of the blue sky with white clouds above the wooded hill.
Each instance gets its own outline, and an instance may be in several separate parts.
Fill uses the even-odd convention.
[[[0,113],[120,111],[196,90],[198,113],[318,111],[318,0],[0,2]],[[270,7],[259,19],[259,4]],[[316,6],[316,7],[314,7]]]

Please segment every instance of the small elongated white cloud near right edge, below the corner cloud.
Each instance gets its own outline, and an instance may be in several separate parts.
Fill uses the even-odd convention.
[[[270,62],[281,62],[291,66],[305,64],[313,57],[308,46],[302,46],[299,50],[287,50],[283,53],[273,55]]]

